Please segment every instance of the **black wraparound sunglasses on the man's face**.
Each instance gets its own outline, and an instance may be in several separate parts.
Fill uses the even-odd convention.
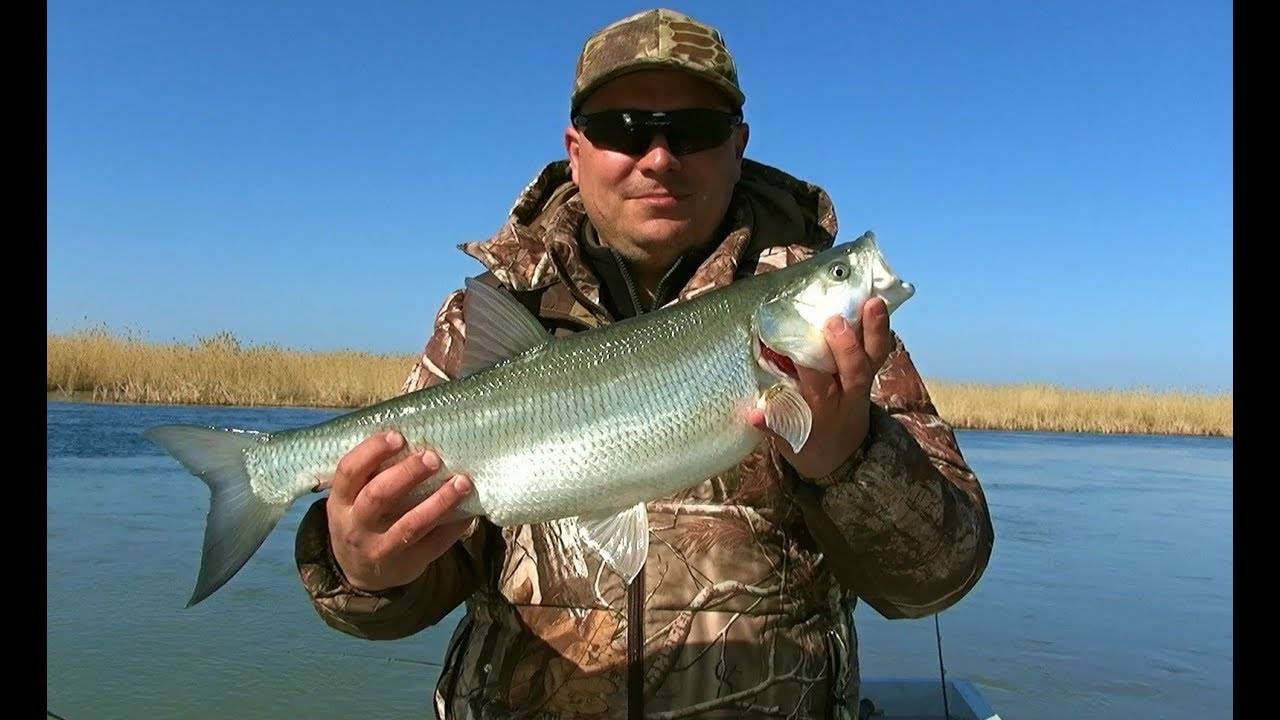
[[[591,145],[644,155],[658,135],[667,138],[672,155],[689,155],[708,150],[728,140],[733,128],[742,124],[740,113],[692,108],[687,110],[603,110],[576,115],[573,127],[580,129]]]

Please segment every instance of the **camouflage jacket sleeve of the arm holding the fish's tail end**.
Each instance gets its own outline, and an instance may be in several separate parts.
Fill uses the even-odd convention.
[[[412,392],[449,379],[462,355],[462,291],[445,299],[426,347],[401,387]],[[412,583],[379,592],[351,585],[333,556],[325,498],[307,510],[298,525],[294,560],[320,618],[343,633],[367,639],[396,639],[439,623],[486,577],[486,525],[472,523],[468,534],[428,566]]]

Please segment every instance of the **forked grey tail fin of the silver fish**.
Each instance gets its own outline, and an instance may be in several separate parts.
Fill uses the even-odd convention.
[[[205,547],[196,588],[187,602],[191,607],[223,587],[248,562],[292,500],[268,502],[250,487],[244,451],[262,442],[266,433],[161,425],[143,434],[209,486]]]

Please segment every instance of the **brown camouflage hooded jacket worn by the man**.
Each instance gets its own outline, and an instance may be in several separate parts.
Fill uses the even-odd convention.
[[[577,241],[585,219],[567,165],[521,193],[490,240],[462,249],[556,334],[611,322]],[[829,246],[826,192],[745,161],[727,234],[672,300]],[[449,379],[466,341],[449,295],[403,391]],[[467,537],[408,585],[369,593],[333,560],[324,500],[297,537],[303,585],[325,623],[389,639],[460,603],[435,691],[444,719],[851,717],[859,700],[852,609],[919,618],[986,569],[992,527],[978,479],[900,338],[873,383],[872,430],[835,473],[804,479],[760,445],[737,468],[649,503],[649,560],[632,585],[561,523]],[[594,582],[599,582],[599,593]]]

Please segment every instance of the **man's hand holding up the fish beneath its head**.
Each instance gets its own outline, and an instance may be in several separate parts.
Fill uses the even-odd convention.
[[[856,327],[833,316],[823,332],[836,360],[836,374],[796,365],[800,395],[813,411],[809,439],[799,455],[786,441],[777,442],[787,462],[806,478],[833,471],[863,443],[870,425],[872,380],[893,350],[888,313],[879,297],[863,305]],[[751,411],[750,423],[777,437],[765,427],[762,410]]]

